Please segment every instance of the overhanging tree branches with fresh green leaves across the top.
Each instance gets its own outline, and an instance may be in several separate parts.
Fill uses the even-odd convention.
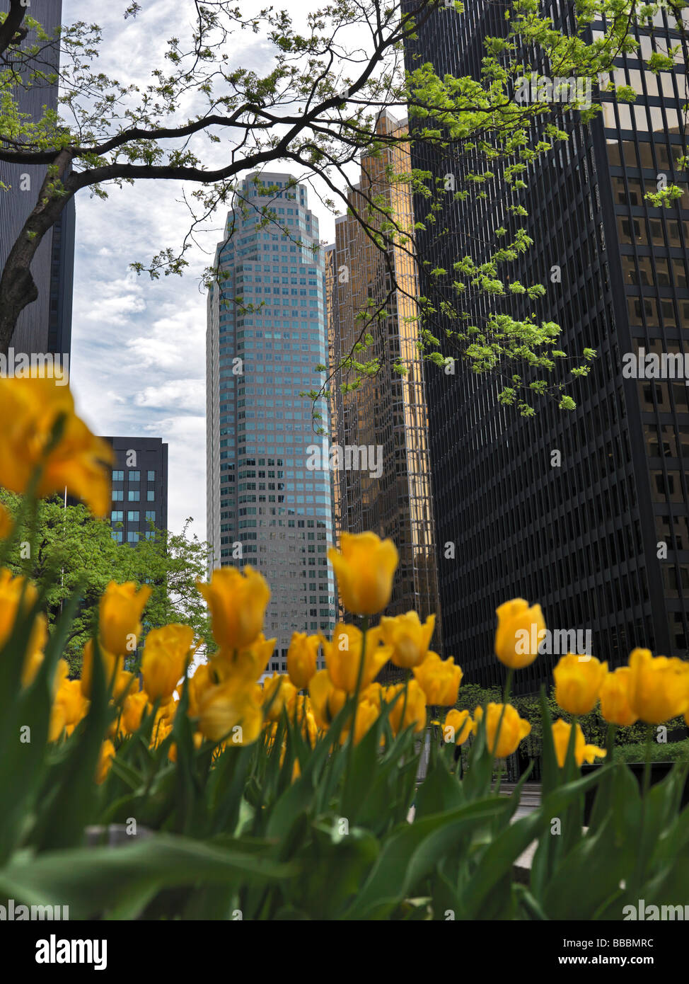
[[[430,64],[405,68],[405,49],[420,26],[431,17],[461,16],[459,2],[331,0],[309,13],[301,27],[285,11],[257,11],[250,3],[208,0],[189,2],[189,7],[188,35],[169,39],[164,63],[151,65],[144,87],[99,71],[102,38],[96,25],[78,22],[49,37],[22,0],[10,0],[9,13],[0,15],[0,160],[46,166],[35,205],[0,276],[0,353],[7,352],[19,314],[36,297],[30,264],[42,237],[85,188],[105,199],[113,185],[136,181],[196,185],[186,196],[192,218],[181,247],[168,246],[149,261],[133,264],[150,277],[181,275],[197,226],[231,200],[239,200],[258,227],[276,220],[269,207],[254,204],[251,194],[242,196],[239,181],[248,170],[284,162],[301,172],[300,179],[318,177],[331,196],[324,199],[327,207],[334,211],[339,201],[340,209],[344,203],[354,212],[384,257],[390,290],[408,293],[408,282],[397,282],[390,256],[404,250],[411,263],[423,262],[415,253],[414,230],[384,196],[365,196],[357,206],[348,202],[347,192],[351,165],[363,153],[381,154],[417,142],[466,163],[455,195],[485,198],[496,176],[506,206],[505,227],[496,242],[482,247],[480,258],[458,256],[453,269],[431,272],[432,294],[420,299],[418,334],[425,357],[440,365],[461,358],[477,372],[499,371],[509,380],[500,399],[517,400],[522,412],[530,407],[518,400],[519,392],[548,392],[541,376],[557,376],[565,364],[558,377],[561,389],[562,379],[587,372],[594,353],[585,351],[583,362],[567,357],[558,347],[559,328],[547,317],[498,315],[493,305],[505,296],[526,294],[535,303],[543,298],[543,284],[520,284],[505,270],[531,245],[518,195],[526,187],[530,163],[568,139],[563,114],[580,114],[586,122],[601,107],[577,99],[563,103],[557,92],[523,102],[517,92],[520,79],[532,70],[598,84],[616,55],[636,49],[636,24],[646,25],[659,5],[584,0],[572,6],[570,28],[562,33],[553,30],[537,0],[513,0],[504,6],[502,35],[486,40],[478,78],[440,78]],[[141,13],[140,4],[130,3],[124,16]],[[589,26],[603,14],[604,36],[589,42]],[[246,31],[264,39],[263,74],[234,58]],[[54,68],[58,44],[59,70]],[[663,57],[654,55],[649,67],[660,71]],[[29,119],[21,110],[22,90],[55,80],[61,87],[59,112],[46,110],[40,119]],[[633,97],[626,87],[611,91],[619,98]],[[378,114],[388,108],[409,115],[409,133],[377,132]],[[437,222],[446,201],[444,187],[414,169],[393,172],[390,178],[411,182],[426,196],[428,210],[418,223]],[[663,192],[663,197],[673,194]],[[437,231],[442,234],[441,228]],[[228,236],[236,232],[232,228]],[[294,228],[285,225],[283,232],[301,245]],[[217,270],[206,272],[208,283],[220,279]],[[357,385],[380,368],[380,358],[368,350],[392,296],[371,298],[362,311],[361,337],[341,365],[330,367],[331,374],[354,377],[345,385]],[[486,299],[488,311],[478,323],[470,314],[477,298]],[[236,302],[242,305],[244,298]],[[538,378],[527,377],[525,366]],[[402,365],[395,368],[406,371]],[[560,405],[574,404],[565,395]]]

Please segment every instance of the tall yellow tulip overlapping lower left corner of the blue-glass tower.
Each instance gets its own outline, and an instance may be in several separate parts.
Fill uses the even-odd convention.
[[[216,568],[210,584],[197,583],[210,609],[213,638],[221,648],[251,646],[263,626],[270,588],[252,567],[244,573],[234,567]]]

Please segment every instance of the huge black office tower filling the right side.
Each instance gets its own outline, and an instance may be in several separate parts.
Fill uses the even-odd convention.
[[[556,29],[571,30],[571,5],[545,9]],[[409,46],[408,67],[419,64],[418,54],[440,76],[478,79],[484,39],[504,34],[504,24],[503,8],[488,0],[463,15],[438,11]],[[651,29],[637,34],[642,57],[668,39],[681,44],[662,14]],[[684,177],[673,171],[686,153],[683,58],[660,76],[630,55],[615,65],[615,82],[639,93],[635,104],[605,96],[605,111],[590,126],[561,114],[556,121],[570,139],[529,165],[527,190],[505,199],[498,175],[485,201],[448,195],[434,225],[442,234],[431,224],[418,234],[421,259],[430,262],[422,292],[430,295],[429,269],[451,269],[464,255],[481,262],[480,243],[494,242],[505,205],[521,203],[534,245],[500,276],[543,283],[545,297],[528,308],[498,298],[493,309],[514,317],[536,310],[539,321],[562,328],[568,355],[585,347],[598,353],[590,375],[570,391],[575,410],[544,399],[532,418],[498,402],[494,377],[460,364],[446,375],[427,363],[445,651],[461,660],[466,680],[484,685],[502,678],[490,651],[495,608],[515,596],[540,601],[551,630],[590,631],[591,651],[611,666],[633,646],[687,655],[687,387],[684,379],[626,379],[623,372],[639,348],[689,352],[689,196],[669,209],[643,197],[657,190],[660,174],[680,184]],[[466,173],[464,158],[453,160],[451,150],[417,145],[413,153],[414,165],[435,178]],[[428,206],[416,208],[422,219]],[[538,689],[558,658],[543,655],[520,671],[517,692]]]

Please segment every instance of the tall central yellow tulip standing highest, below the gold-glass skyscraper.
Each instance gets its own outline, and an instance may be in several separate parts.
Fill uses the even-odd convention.
[[[375,615],[385,607],[399,563],[392,540],[381,540],[375,533],[342,533],[340,550],[331,547],[327,556],[347,611]]]

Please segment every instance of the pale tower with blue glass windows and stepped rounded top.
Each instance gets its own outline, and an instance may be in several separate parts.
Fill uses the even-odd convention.
[[[293,631],[330,632],[335,590],[327,459],[325,275],[307,188],[290,174],[245,178],[216,251],[206,330],[206,539],[215,564],[270,584],[269,669],[286,668]]]

